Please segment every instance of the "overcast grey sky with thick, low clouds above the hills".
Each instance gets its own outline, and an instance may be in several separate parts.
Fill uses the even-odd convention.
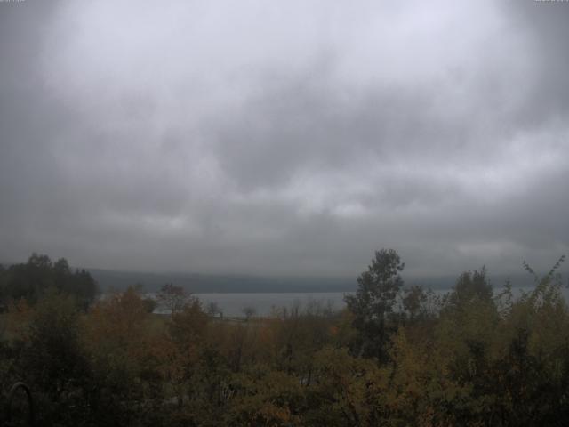
[[[0,3],[0,260],[353,276],[569,253],[569,3]]]

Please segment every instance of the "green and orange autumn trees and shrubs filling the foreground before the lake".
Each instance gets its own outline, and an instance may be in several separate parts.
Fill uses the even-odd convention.
[[[94,302],[69,285],[80,272],[57,276],[59,262],[39,259],[1,273],[0,383],[27,382],[44,425],[569,419],[569,310],[559,263],[518,297],[509,284],[493,293],[482,269],[463,273],[437,298],[405,287],[404,263],[381,250],[358,278],[357,294],[346,297],[346,310],[313,303],[236,320],[213,317],[173,285],[160,300],[172,316],[152,314],[135,287]]]

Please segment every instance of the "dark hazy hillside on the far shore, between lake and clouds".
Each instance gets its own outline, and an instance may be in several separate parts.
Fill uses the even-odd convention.
[[[99,283],[103,292],[124,290],[140,284],[148,292],[156,292],[165,283],[182,286],[195,294],[207,293],[283,293],[283,292],[353,292],[357,289],[356,278],[284,278],[247,275],[204,275],[192,273],[145,273],[87,269]],[[566,278],[566,275],[564,275]],[[508,276],[491,275],[494,287],[501,287]],[[532,286],[529,274],[509,276],[512,286]],[[412,277],[405,276],[406,285],[420,285],[432,289],[450,289],[457,276]]]

